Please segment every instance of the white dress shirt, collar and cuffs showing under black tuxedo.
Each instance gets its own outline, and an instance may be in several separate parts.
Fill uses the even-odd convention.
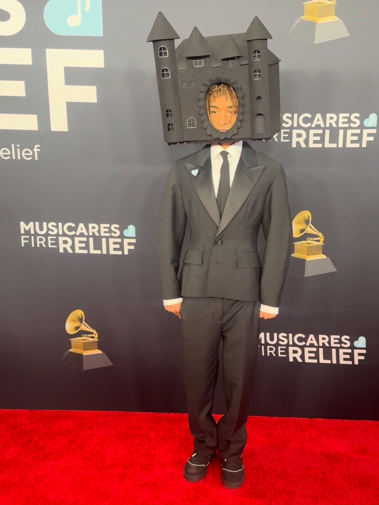
[[[227,149],[223,149],[220,144],[211,145],[211,163],[212,163],[212,180],[214,187],[214,194],[217,198],[218,186],[220,184],[221,175],[221,165],[223,162],[221,151],[226,151],[228,154],[229,162],[229,180],[230,187],[234,179],[235,170],[237,168],[238,162],[241,158],[243,141],[234,142],[234,144],[229,145]],[[174,298],[172,300],[163,300],[163,305],[174,305],[179,304],[183,298]],[[278,314],[279,309],[277,307],[269,307],[268,305],[261,304],[261,311],[267,312],[268,314]]]

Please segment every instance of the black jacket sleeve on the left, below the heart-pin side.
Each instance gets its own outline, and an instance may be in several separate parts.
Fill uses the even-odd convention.
[[[180,297],[178,269],[186,225],[175,165],[167,177],[158,218],[158,262],[166,300]]]

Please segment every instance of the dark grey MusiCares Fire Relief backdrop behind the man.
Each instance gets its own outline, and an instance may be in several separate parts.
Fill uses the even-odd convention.
[[[163,139],[158,11],[181,39],[258,16],[281,59],[281,131],[252,145],[285,167],[297,256],[251,414],[379,420],[375,0],[0,0],[0,408],[185,412],[157,213],[201,146]]]

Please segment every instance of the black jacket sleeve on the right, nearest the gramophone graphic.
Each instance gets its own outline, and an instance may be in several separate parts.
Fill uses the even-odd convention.
[[[292,219],[286,176],[279,166],[268,190],[262,216],[266,247],[261,276],[261,303],[279,307],[292,249]]]

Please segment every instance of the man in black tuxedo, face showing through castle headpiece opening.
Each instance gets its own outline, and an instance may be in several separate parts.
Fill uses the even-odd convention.
[[[238,114],[233,88],[211,86],[209,121],[228,131]],[[261,266],[257,236],[266,247]],[[180,280],[186,226],[189,245]],[[183,380],[194,452],[184,478],[205,477],[216,450],[228,488],[244,481],[245,423],[258,356],[259,318],[278,313],[292,246],[292,223],[282,166],[249,144],[220,141],[176,161],[159,214],[158,258],[164,306],[182,320]],[[227,412],[212,416],[223,341],[223,388]]]

